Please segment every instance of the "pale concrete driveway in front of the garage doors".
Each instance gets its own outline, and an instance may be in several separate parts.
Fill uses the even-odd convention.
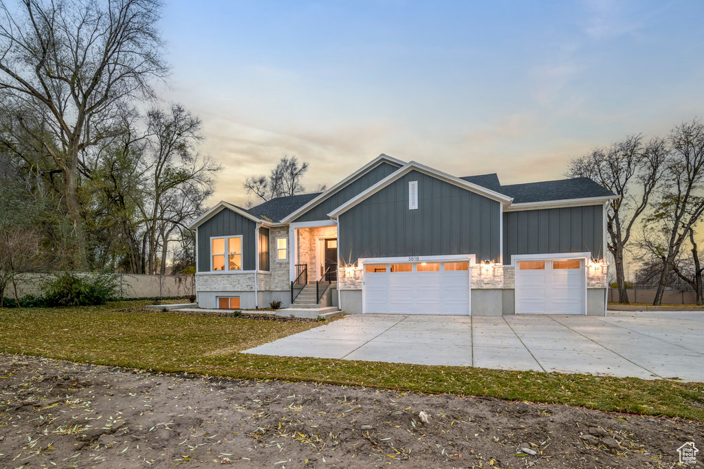
[[[246,353],[704,382],[704,313],[354,314]]]

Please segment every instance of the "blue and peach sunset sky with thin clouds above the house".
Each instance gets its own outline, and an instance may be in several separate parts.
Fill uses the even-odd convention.
[[[168,1],[171,88],[220,162],[332,186],[386,153],[503,184],[704,110],[702,1]],[[251,199],[254,201],[255,199]]]

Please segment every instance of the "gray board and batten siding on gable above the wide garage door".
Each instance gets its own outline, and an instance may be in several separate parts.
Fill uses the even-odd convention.
[[[418,208],[408,209],[408,183],[418,181]],[[474,254],[498,262],[499,203],[411,171],[339,216],[341,262],[360,257]]]

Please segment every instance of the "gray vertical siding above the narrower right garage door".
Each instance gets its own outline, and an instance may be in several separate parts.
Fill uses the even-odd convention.
[[[503,263],[512,255],[591,252],[603,259],[603,206],[522,210],[503,214]]]

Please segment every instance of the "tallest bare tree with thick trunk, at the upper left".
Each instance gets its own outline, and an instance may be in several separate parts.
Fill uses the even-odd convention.
[[[18,110],[63,176],[73,223],[76,267],[86,265],[77,196],[80,153],[107,136],[132,98],[152,94],[163,77],[158,0],[23,0],[14,13],[0,1],[0,92]],[[49,137],[49,138],[48,138]]]

